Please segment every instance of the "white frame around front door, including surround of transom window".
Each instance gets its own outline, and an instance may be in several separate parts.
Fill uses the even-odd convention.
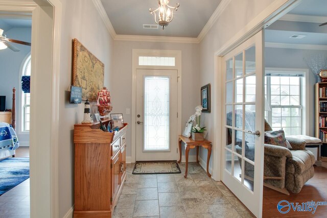
[[[175,66],[139,66],[138,65],[138,57],[146,56],[146,57],[175,57]],[[177,135],[176,135],[176,144],[178,143],[178,135],[181,135],[181,123],[182,123],[182,64],[181,64],[182,52],[179,50],[145,50],[145,49],[133,49],[132,50],[132,123],[131,123],[131,147],[132,147],[132,156],[130,157],[130,161],[135,162],[136,158],[136,69],[176,69],[178,75],[178,84],[177,84]],[[173,136],[172,136],[173,137]],[[178,158],[178,154],[176,153],[176,159]]]

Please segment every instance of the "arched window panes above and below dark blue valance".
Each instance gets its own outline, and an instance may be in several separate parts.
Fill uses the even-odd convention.
[[[31,56],[29,56],[22,68],[22,76],[31,76]],[[30,131],[30,93],[22,93],[22,131]]]

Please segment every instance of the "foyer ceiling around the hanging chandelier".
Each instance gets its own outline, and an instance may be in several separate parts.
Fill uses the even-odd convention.
[[[157,0],[101,0],[102,5],[118,35],[171,36],[196,38],[217,9],[221,0],[171,0],[179,3],[174,19],[165,30],[143,29],[144,24],[155,24],[149,8],[157,8]]]

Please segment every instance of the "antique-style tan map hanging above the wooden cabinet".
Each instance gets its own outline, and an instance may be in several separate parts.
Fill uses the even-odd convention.
[[[103,88],[104,64],[77,39],[73,41],[73,86],[82,88],[82,99],[97,101]]]

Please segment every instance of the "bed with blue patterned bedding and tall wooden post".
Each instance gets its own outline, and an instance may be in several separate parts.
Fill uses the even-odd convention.
[[[16,89],[13,88],[11,111],[0,112],[0,160],[15,157],[15,150],[19,147],[16,136]],[[11,126],[10,126],[11,125]]]

